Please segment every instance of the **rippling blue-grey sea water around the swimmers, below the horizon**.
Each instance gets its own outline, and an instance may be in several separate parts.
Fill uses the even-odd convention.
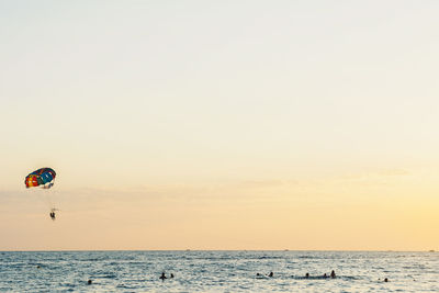
[[[38,268],[40,266],[40,268]],[[331,270],[336,279],[317,279]],[[159,280],[161,272],[173,279]],[[266,277],[273,271],[274,277]],[[263,274],[257,278],[256,273]],[[303,279],[308,272],[312,279]],[[389,282],[383,282],[389,278]],[[91,285],[87,281],[91,279]],[[380,279],[380,280],[379,280]],[[438,252],[0,252],[1,292],[439,292]]]

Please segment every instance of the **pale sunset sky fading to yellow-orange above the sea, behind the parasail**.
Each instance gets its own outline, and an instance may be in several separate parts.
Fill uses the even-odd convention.
[[[438,12],[0,1],[0,250],[439,249]]]

